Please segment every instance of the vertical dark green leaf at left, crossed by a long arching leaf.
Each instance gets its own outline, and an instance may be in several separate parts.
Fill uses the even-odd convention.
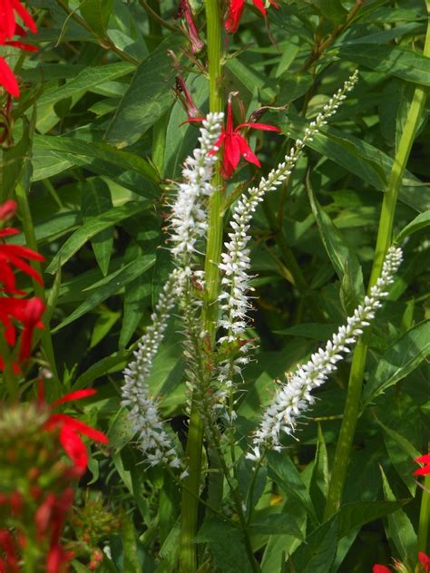
[[[113,209],[111,191],[106,183],[98,178],[87,179],[82,190],[82,213],[83,221],[102,215],[106,211]],[[94,255],[97,263],[106,277],[111,260],[113,236],[112,228],[106,228],[101,233],[94,235],[91,240]]]

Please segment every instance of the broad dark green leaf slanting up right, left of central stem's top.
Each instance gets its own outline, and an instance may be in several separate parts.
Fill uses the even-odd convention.
[[[139,65],[106,131],[106,140],[122,148],[138,141],[174,101],[175,73],[167,50],[180,53],[182,35],[169,36]]]

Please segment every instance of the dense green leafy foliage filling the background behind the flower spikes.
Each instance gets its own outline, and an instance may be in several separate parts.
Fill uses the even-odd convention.
[[[180,177],[181,161],[197,141],[196,127],[181,124],[186,114],[175,101],[176,72],[167,53],[180,54],[185,39],[152,19],[143,3],[32,5],[42,49],[21,71],[28,84],[15,108],[14,144],[2,152],[0,192],[3,201],[25,174],[35,237],[49,262],[44,280],[59,381],[48,396],[94,381],[99,389],[85,415],[108,430],[112,456],[94,456],[89,480],[127,514],[103,568],[167,572],[177,551],[179,493],[168,476],[140,464],[119,388],[169,272],[163,245],[171,180]],[[254,219],[250,335],[260,348],[246,370],[243,435],[268,403],[272,380],[324,342],[363,296],[406,113],[415,85],[430,85],[430,61],[421,55],[424,0],[368,0],[344,29],[351,5],[284,2],[268,11],[269,34],[247,7],[224,66],[225,92],[239,91],[249,112],[269,106],[263,121],[282,128],[284,137],[251,134],[262,173],[294,144],[305,117],[315,117],[347,76],[360,71],[354,92],[308,146],[288,185]],[[177,27],[170,0],[151,6]],[[200,2],[194,6],[200,11]],[[315,53],[316,40],[330,34],[333,42]],[[183,55],[180,63],[206,110],[206,78]],[[249,500],[257,505],[250,530],[263,573],[368,571],[390,555],[415,562],[420,495],[413,458],[427,452],[430,413],[427,112],[428,102],[400,188],[395,234],[405,238],[405,263],[370,339],[345,506],[321,524],[347,364],[318,392],[299,442],[286,442],[290,458],[269,456],[268,474]],[[228,193],[246,188],[253,169],[239,170]],[[15,241],[24,244],[24,235]],[[181,441],[186,393],[179,329],[173,321],[150,384]],[[249,472],[242,465],[239,488],[246,497]],[[198,542],[212,556],[202,571],[249,570],[240,532],[229,523],[205,520]]]

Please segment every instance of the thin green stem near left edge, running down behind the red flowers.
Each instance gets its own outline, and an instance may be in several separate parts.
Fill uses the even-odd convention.
[[[30,205],[28,203],[28,197],[24,185],[20,182],[17,184],[15,189],[15,196],[18,203],[19,213],[23,221],[25,242],[28,248],[37,251],[37,241],[34,235],[34,225],[33,218],[30,210]],[[42,276],[42,267],[39,261],[31,261],[32,267]],[[44,292],[44,286],[39,285],[39,283],[33,279],[34,295],[38,296],[44,304],[46,303],[46,294]],[[50,365],[51,372],[54,374],[55,380],[58,380],[58,372],[55,364],[55,355],[53,340],[51,337],[51,330],[49,325],[45,325],[44,330],[41,335],[42,348],[47,362]]]

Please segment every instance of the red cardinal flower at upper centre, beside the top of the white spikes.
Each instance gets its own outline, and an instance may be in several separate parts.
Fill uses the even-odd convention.
[[[227,104],[227,121],[225,130],[220,134],[220,138],[215,143],[215,145],[220,148],[221,145],[224,146],[222,152],[222,176],[224,179],[229,179],[233,172],[237,169],[239,165],[240,157],[244,160],[253,163],[258,167],[261,166],[259,158],[250,149],[245,138],[240,135],[239,131],[244,127],[251,127],[254,130],[263,131],[280,131],[279,127],[274,125],[267,125],[266,123],[240,123],[236,128],[233,129],[233,111],[231,105],[231,95],[229,97],[229,102]]]

